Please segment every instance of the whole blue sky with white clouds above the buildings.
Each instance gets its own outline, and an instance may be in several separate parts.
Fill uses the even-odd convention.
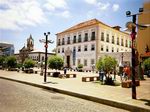
[[[150,0],[0,0],[0,42],[14,44],[19,52],[32,34],[35,49],[44,51],[39,39],[51,32],[48,51],[56,47],[56,33],[77,23],[97,18],[122,29],[131,21],[125,12],[137,13]]]

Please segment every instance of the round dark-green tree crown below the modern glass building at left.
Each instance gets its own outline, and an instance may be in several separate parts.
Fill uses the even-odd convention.
[[[15,68],[17,65],[17,60],[15,56],[6,57],[6,65],[9,68]]]

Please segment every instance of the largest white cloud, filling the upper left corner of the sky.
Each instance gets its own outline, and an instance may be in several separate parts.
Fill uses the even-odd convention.
[[[47,21],[36,0],[2,0],[0,6],[0,29],[21,30]]]

